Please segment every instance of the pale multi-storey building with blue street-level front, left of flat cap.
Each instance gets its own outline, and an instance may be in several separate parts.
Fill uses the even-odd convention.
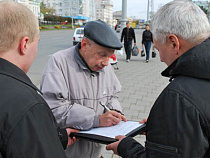
[[[48,8],[55,9],[55,15],[81,20],[96,19],[96,0],[44,0]]]

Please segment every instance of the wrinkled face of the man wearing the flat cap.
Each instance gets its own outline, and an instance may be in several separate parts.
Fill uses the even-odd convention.
[[[84,42],[84,41],[83,41]],[[83,45],[83,43],[81,44]],[[83,59],[86,61],[91,71],[99,71],[109,64],[109,58],[114,54],[114,50],[102,47],[96,43],[88,43],[83,47]]]

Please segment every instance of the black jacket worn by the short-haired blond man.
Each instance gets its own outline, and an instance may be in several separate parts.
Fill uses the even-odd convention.
[[[0,155],[3,158],[66,158],[59,140],[60,135],[67,138],[66,131],[58,130],[51,110],[37,92],[21,69],[0,58]]]

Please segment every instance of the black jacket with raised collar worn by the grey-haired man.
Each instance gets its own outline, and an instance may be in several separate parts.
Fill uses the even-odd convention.
[[[146,148],[126,138],[118,146],[122,157],[210,157],[209,48],[210,39],[207,39],[162,72],[172,81],[151,109]]]

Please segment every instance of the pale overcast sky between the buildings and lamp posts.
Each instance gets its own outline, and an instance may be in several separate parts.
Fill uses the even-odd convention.
[[[112,0],[113,11],[122,10],[122,0]],[[164,5],[172,0],[153,0],[154,11],[156,12],[160,5]],[[136,16],[140,19],[147,19],[147,2],[148,0],[127,0],[127,16]]]

